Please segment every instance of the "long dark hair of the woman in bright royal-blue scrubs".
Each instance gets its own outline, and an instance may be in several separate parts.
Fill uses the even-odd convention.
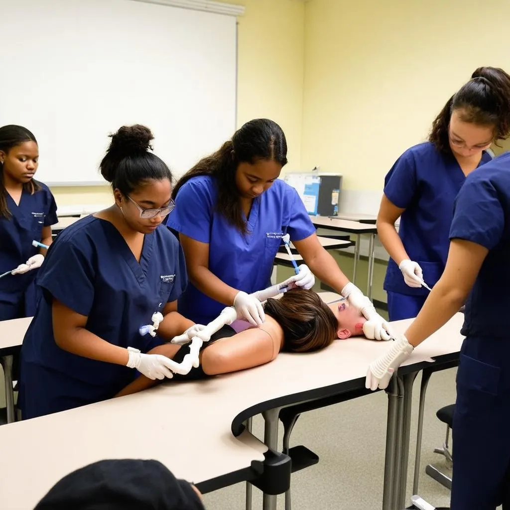
[[[246,234],[247,225],[239,203],[236,187],[236,170],[239,163],[256,163],[259,160],[287,164],[287,141],[282,128],[269,119],[246,122],[214,154],[201,159],[187,171],[173,188],[175,200],[179,189],[192,177],[211,175],[216,179],[218,200],[216,210],[240,232]]]

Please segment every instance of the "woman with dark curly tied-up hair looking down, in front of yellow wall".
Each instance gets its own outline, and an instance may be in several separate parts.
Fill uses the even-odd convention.
[[[443,273],[453,201],[486,150],[510,135],[510,76],[480,67],[446,103],[428,142],[407,149],[385,179],[377,234],[390,261],[384,281],[391,321],[416,317]],[[395,221],[400,217],[397,234]]]

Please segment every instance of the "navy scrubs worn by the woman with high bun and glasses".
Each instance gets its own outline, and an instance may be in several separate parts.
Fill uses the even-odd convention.
[[[103,340],[147,352],[163,341],[141,336],[140,326],[152,324],[152,314],[179,298],[187,276],[179,242],[165,225],[145,235],[138,263],[112,223],[88,216],[67,227],[49,247],[36,284],[43,298],[23,340],[21,385],[27,392],[42,392],[43,399],[65,396],[90,403],[113,397],[138,372],[58,347],[53,299],[86,316],[86,329]],[[46,388],[37,387],[38,367],[53,374]],[[38,415],[37,410],[25,411],[28,417]]]

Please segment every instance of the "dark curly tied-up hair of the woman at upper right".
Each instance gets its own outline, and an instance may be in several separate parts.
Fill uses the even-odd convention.
[[[494,139],[510,136],[510,75],[498,67],[478,67],[471,80],[448,99],[432,122],[428,137],[439,152],[451,154],[448,126],[454,110],[462,110],[462,120],[494,126]]]

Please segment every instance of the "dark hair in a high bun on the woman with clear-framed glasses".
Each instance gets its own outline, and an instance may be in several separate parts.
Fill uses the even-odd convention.
[[[152,152],[154,138],[148,127],[135,124],[122,126],[114,135],[99,168],[101,175],[124,196],[129,195],[143,181],[168,179],[172,173],[166,163]]]

